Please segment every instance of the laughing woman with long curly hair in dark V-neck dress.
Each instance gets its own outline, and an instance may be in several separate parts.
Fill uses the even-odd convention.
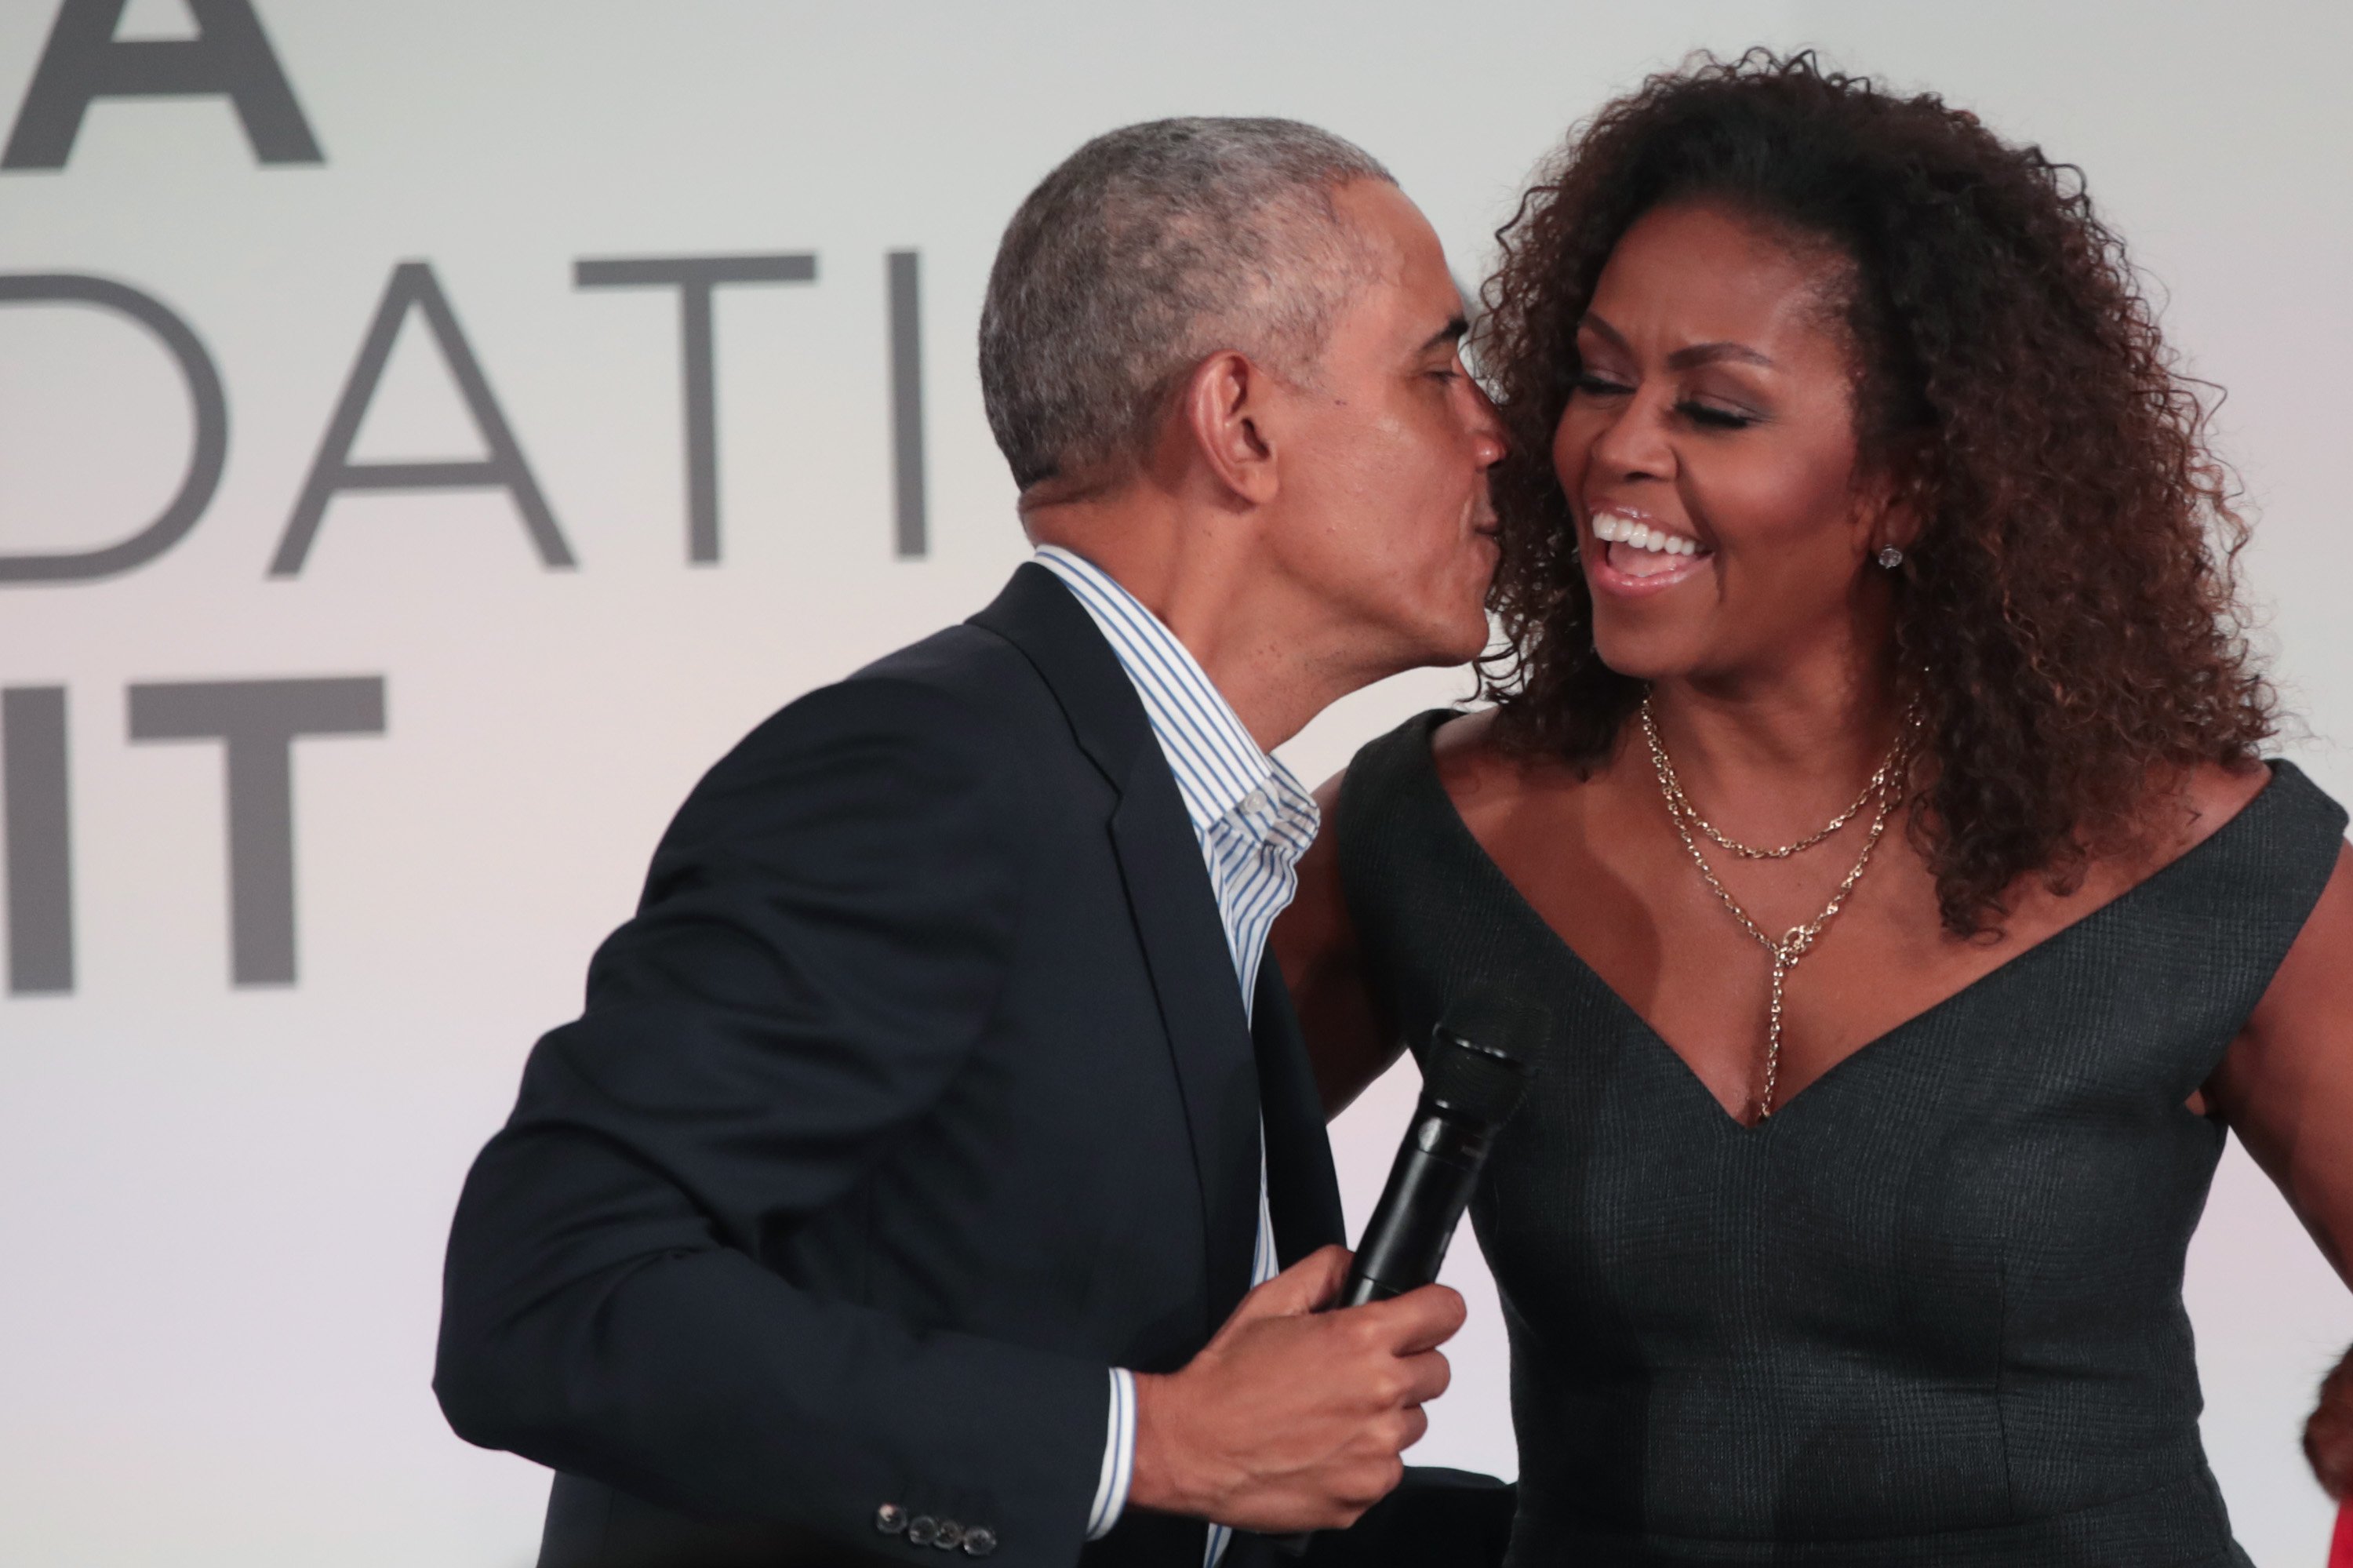
[[[2226,1128],[2353,1248],[2353,852],[2073,170],[1807,57],[1654,78],[1504,231],[1494,706],[1351,763],[1278,932],[1332,1109],[1551,1034],[1473,1217],[1513,1563],[2242,1563],[2181,1262]]]

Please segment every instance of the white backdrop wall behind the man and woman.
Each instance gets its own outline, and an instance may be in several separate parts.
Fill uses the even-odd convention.
[[[56,7],[0,5],[5,118]],[[195,7],[205,28],[221,9]],[[174,549],[106,579],[0,582],[0,685],[64,690],[71,812],[71,885],[19,845],[19,925],[40,937],[0,996],[7,1563],[529,1561],[541,1471],[459,1443],[426,1387],[459,1180],[696,772],[793,695],[967,614],[1021,558],[972,370],[979,294],[1026,188],[1118,122],[1329,125],[1395,167],[1466,278],[1537,155],[1699,45],[1819,42],[2042,141],[2089,172],[2162,280],[2174,341],[2231,391],[2224,436],[2261,511],[2249,574],[2311,732],[2292,751],[2353,798],[2329,744],[2353,735],[2341,7],[259,12],[322,162],[256,162],[221,97],[139,97],[99,99],[64,167],[0,170],[0,278],[155,297],[226,407],[226,471]],[[132,0],[115,38],[193,31],[184,0]],[[901,250],[920,254],[918,558],[894,553]],[[678,294],[581,290],[574,264],[741,254],[814,254],[814,280],[718,290],[720,558],[696,565]],[[402,261],[431,264],[574,567],[544,565],[501,490],[412,490],[336,494],[301,570],[268,574]],[[134,534],[188,450],[151,332],[0,308],[0,556]],[[482,454],[412,318],[353,461]],[[381,680],[386,713],[292,744],[296,977],[233,984],[224,746],[134,742],[127,692],[264,678]],[[1461,690],[1377,687],[1287,756],[1322,777]],[[14,704],[7,777],[19,838],[54,843],[45,702]],[[240,810],[266,829],[271,753],[245,751],[264,765]],[[261,838],[240,850],[256,885]],[[38,989],[68,930],[71,991]],[[1339,1125],[1355,1222],[1409,1095],[1393,1076]],[[1468,1243],[1454,1276],[1475,1318],[1419,1457],[1511,1474],[1501,1326]],[[2235,1149],[2188,1290],[2240,1535],[2266,1568],[2318,1563],[2327,1509],[2294,1436],[2353,1302]]]

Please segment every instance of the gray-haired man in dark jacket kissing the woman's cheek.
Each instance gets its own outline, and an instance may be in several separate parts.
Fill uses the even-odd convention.
[[[1024,202],[981,384],[1038,558],[711,770],[459,1203],[435,1389],[560,1471],[544,1568],[1242,1568],[1395,1483],[1461,1302],[1313,1311],[1268,751],[1485,645],[1461,332],[1304,125],[1136,125]]]

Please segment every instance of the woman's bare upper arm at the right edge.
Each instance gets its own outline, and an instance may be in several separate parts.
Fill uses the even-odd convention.
[[[2353,848],[2207,1088],[2353,1283]]]

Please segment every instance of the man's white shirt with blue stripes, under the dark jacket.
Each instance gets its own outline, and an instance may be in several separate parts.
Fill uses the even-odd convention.
[[[1247,1017],[1259,986],[1259,961],[1266,956],[1266,932],[1299,890],[1299,857],[1315,841],[1315,796],[1292,777],[1289,768],[1259,749],[1200,662],[1134,593],[1059,544],[1042,546],[1035,560],[1054,572],[1094,619],[1144,702],[1144,718],[1167,756],[1169,772],[1176,775],[1176,793],[1209,869],[1209,888],[1226,925],[1226,949],[1233,954],[1233,977],[1242,986]],[[1249,1283],[1259,1285],[1273,1276],[1275,1229],[1266,1212],[1261,1147],[1259,1238]],[[1134,1460],[1134,1375],[1115,1368],[1104,1471],[1087,1519],[1087,1540],[1099,1540],[1120,1521]],[[1214,1566],[1231,1537],[1233,1530],[1212,1523],[1202,1561]]]

